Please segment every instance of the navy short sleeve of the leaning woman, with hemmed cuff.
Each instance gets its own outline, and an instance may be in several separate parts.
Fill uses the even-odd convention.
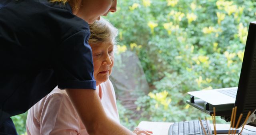
[[[89,29],[82,30],[56,48],[52,65],[60,89],[96,89],[89,37]]]

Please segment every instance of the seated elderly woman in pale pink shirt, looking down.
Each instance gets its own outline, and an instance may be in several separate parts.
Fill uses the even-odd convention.
[[[90,32],[88,42],[92,48],[96,91],[105,113],[119,123],[116,96],[108,79],[114,66],[114,44],[118,31],[101,18],[90,25]],[[58,88],[29,109],[26,129],[28,135],[88,135],[66,91]],[[151,135],[152,132],[136,128],[134,133]]]

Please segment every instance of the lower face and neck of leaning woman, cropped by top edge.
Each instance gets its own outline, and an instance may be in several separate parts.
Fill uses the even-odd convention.
[[[82,0],[76,15],[92,24],[109,12],[116,12],[116,0]]]

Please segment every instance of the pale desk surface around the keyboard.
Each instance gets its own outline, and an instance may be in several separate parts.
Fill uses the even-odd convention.
[[[151,122],[151,121],[141,121],[138,127],[153,131],[153,135],[168,135],[168,129],[170,125],[173,123],[170,122]],[[216,130],[228,130],[230,124],[216,124]],[[256,127],[252,127],[249,125],[245,125],[246,129],[256,131]],[[211,124],[211,129],[213,130],[213,124]],[[241,129],[241,128],[240,128]],[[249,132],[247,130],[243,130],[242,135],[248,135],[248,133],[252,134],[253,132]],[[253,133],[256,135],[256,133]],[[225,134],[222,134],[225,135]]]

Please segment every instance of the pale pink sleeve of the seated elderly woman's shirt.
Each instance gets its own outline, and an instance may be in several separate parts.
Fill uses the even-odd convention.
[[[80,120],[67,95],[55,93],[44,102],[40,135],[78,135]]]

